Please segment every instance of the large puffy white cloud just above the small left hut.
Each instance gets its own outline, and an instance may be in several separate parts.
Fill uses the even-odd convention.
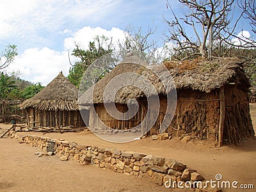
[[[70,64],[68,52],[57,52],[48,47],[26,49],[8,67],[8,71],[19,71],[20,78],[44,85],[52,81],[60,71],[68,75]]]

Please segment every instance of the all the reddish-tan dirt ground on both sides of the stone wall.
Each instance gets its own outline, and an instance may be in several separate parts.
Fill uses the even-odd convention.
[[[255,129],[256,104],[251,104],[250,107]],[[6,129],[10,125],[1,124],[0,127]],[[28,133],[20,132],[19,134]],[[41,135],[42,133],[30,134]],[[72,140],[80,144],[170,157],[187,164],[189,168],[195,168],[206,179],[216,180],[215,175],[221,173],[223,180],[253,184],[254,189],[248,189],[248,191],[256,188],[255,137],[237,146],[225,145],[214,148],[212,144],[204,141],[182,143],[176,138],[164,141],[146,138],[130,143],[109,143],[90,132],[47,133],[44,136]],[[33,155],[40,151],[39,148],[19,144],[15,140],[1,139],[0,191],[166,191],[163,186],[153,184],[149,178],[138,179],[111,170],[81,166],[75,161],[63,162],[56,156]],[[234,191],[234,189],[227,191]]]

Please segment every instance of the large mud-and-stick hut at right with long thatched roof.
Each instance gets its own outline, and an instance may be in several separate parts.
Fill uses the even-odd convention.
[[[166,108],[163,107],[166,103],[166,92],[176,88],[177,108],[167,132],[177,136],[191,134],[201,139],[216,141],[219,145],[222,145],[223,141],[239,143],[254,135],[248,104],[250,83],[244,74],[242,61],[236,58],[219,61],[166,61],[161,65],[152,66],[136,65],[133,61],[134,59],[129,61],[127,58],[121,62],[81,97],[80,103],[91,106],[93,104],[97,108],[95,111],[99,113],[98,116],[101,116],[102,122],[106,125],[120,129],[120,123],[109,123],[113,122],[113,119],[106,115],[102,103],[111,102],[111,99],[103,97],[104,88],[109,86],[109,82],[114,77],[124,72],[132,72],[146,77],[159,95],[161,109],[158,120],[148,134],[159,132],[166,113]],[[168,68],[173,81],[168,76],[164,76],[164,68]],[[144,83],[143,78],[136,77],[133,82],[134,84],[118,90],[115,103],[125,106],[130,99],[138,100],[142,111],[139,110],[138,116],[134,116],[132,122],[137,120],[137,124],[140,124],[143,120],[141,115],[145,116],[147,112],[145,109],[147,98],[145,98],[145,93],[136,87],[137,84]],[[164,84],[170,86],[164,87]],[[114,83],[113,88],[116,86],[117,84]],[[111,90],[111,88],[108,89]],[[150,88],[145,87],[144,91],[149,96],[156,95],[156,92]],[[99,125],[93,121],[93,115],[90,118],[92,118],[90,126]],[[121,129],[131,128],[131,123],[130,126],[128,124],[129,121],[122,123]]]

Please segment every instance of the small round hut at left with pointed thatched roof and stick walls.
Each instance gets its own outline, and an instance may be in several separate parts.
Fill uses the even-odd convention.
[[[39,93],[22,102],[20,109],[26,111],[28,127],[84,126],[77,97],[76,86],[60,72]]]

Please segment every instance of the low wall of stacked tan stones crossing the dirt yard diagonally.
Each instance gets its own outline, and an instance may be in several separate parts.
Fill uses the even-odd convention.
[[[187,168],[185,164],[174,159],[115,148],[79,145],[75,141],[56,140],[44,136],[19,137],[14,131],[11,131],[9,136],[19,140],[20,143],[41,148],[48,152],[48,155],[59,156],[62,161],[72,159],[81,164],[91,164],[98,168],[137,177],[148,174],[160,186],[166,181],[172,181],[172,184],[175,183],[175,187],[179,181],[190,181],[191,183],[202,181],[203,184],[205,183],[204,177],[198,174],[196,170]]]

